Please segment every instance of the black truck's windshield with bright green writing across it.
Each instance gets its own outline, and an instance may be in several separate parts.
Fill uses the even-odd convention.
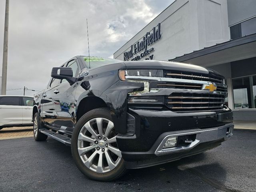
[[[86,67],[89,68],[89,57],[83,57],[84,62],[86,64]],[[102,58],[102,57],[92,57],[90,56],[90,68],[96,68],[102,65],[112,64],[112,63],[119,63],[122,62],[117,59],[111,59],[111,58]]]

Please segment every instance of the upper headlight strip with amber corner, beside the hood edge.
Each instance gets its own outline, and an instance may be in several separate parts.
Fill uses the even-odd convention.
[[[147,76],[147,77],[163,77],[163,70],[159,69],[130,69],[130,70],[119,70],[119,78],[122,81],[126,81],[126,76]]]

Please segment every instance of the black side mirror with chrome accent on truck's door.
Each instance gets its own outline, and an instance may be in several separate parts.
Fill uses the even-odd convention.
[[[77,81],[77,79],[73,77],[73,71],[71,67],[54,67],[52,68],[51,77],[55,79],[66,79],[70,85]]]

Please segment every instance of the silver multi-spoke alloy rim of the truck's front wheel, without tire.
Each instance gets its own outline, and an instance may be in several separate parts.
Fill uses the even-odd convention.
[[[116,144],[114,124],[106,118],[86,122],[78,135],[78,154],[84,165],[97,173],[106,173],[120,163],[122,154]]]

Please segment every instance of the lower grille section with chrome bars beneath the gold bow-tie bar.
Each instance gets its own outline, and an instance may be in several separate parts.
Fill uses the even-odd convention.
[[[177,93],[166,97],[165,104],[172,111],[222,110],[225,96],[213,93]]]

